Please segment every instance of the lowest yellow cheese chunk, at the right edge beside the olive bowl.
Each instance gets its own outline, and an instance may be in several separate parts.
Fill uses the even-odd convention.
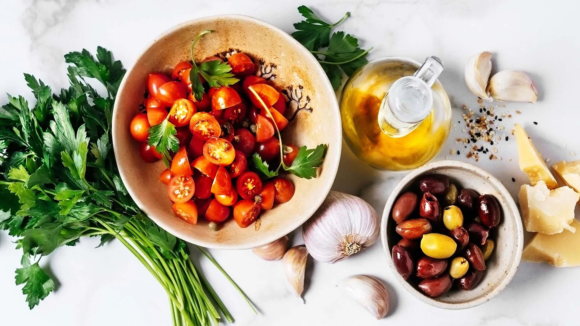
[[[570,225],[578,228],[580,222],[574,220]],[[521,259],[557,267],[580,266],[580,232],[565,230],[551,236],[537,233],[525,246]]]

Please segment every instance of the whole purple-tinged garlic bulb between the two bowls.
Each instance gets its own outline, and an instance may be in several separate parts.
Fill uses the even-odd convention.
[[[303,225],[302,236],[314,259],[336,263],[375,243],[379,216],[361,198],[331,191]]]

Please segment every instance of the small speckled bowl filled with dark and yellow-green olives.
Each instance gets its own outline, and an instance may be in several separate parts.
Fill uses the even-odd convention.
[[[387,200],[380,236],[401,285],[443,309],[481,305],[501,292],[523,248],[512,196],[490,173],[460,161],[405,176]]]

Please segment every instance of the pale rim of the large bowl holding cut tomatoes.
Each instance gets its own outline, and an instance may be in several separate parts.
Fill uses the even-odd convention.
[[[133,60],[131,66],[128,66],[128,68],[126,68],[127,69],[126,73],[125,73],[125,75],[121,81],[121,84],[119,85],[119,89],[117,91],[117,97],[119,97],[123,94],[128,76],[132,73],[133,68],[135,67],[135,64],[137,63],[137,61],[139,61],[144,56],[144,53],[147,52],[147,50],[149,50],[154,44],[156,44],[158,41],[160,41],[164,37],[172,34],[173,32],[180,30],[183,27],[190,26],[191,24],[195,24],[195,23],[204,23],[207,21],[215,21],[218,19],[244,20],[244,21],[250,21],[252,23],[259,24],[260,26],[269,28],[270,30],[273,30],[273,31],[277,32],[278,34],[280,34],[282,36],[282,38],[285,39],[285,41],[287,41],[290,45],[293,46],[294,50],[305,53],[307,55],[306,56],[307,60],[310,60],[311,63],[315,64],[315,67],[317,69],[316,70],[317,73],[319,75],[324,76],[324,78],[321,78],[322,82],[321,82],[320,86],[325,87],[329,93],[333,94],[333,96],[331,96],[330,103],[328,103],[328,106],[329,106],[329,108],[331,108],[331,110],[333,108],[336,116],[338,117],[338,119],[336,119],[335,126],[333,126],[333,129],[338,131],[338,135],[342,136],[342,124],[340,122],[340,110],[339,110],[339,105],[338,105],[338,99],[336,99],[336,93],[335,93],[334,89],[332,88],[331,82],[326,77],[326,73],[324,72],[324,70],[322,69],[322,66],[320,66],[320,64],[318,63],[316,58],[313,55],[311,55],[309,50],[307,50],[302,44],[300,44],[300,42],[296,41],[296,39],[291,37],[291,35],[289,35],[287,32],[281,30],[280,28],[278,28],[276,26],[273,26],[269,23],[266,23],[266,21],[257,19],[255,17],[247,16],[247,15],[231,14],[231,15],[213,15],[213,16],[200,17],[197,19],[184,21],[183,23],[179,23],[175,26],[169,27],[167,30],[161,32],[161,34],[154,37],[146,46],[144,46],[144,48],[140,51],[139,55],[137,55],[135,57],[135,60]],[[325,200],[326,196],[328,195],[329,191],[331,190],[331,187],[332,187],[332,184],[334,183],[334,180],[336,179],[336,173],[338,173],[338,165],[340,162],[340,153],[342,152],[342,137],[340,137],[340,141],[335,141],[335,144],[332,144],[332,146],[337,148],[337,150],[334,151],[334,153],[335,153],[334,157],[330,157],[328,155],[328,152],[327,152],[327,155],[324,158],[325,161],[329,160],[329,162],[331,163],[331,164],[329,164],[329,166],[325,166],[325,173],[329,173],[329,175],[330,175],[329,182],[325,185],[324,188],[320,189],[319,196],[316,196],[315,198],[311,198],[311,205],[310,205],[311,208],[309,209],[309,212],[306,213],[302,218],[295,219],[295,222],[291,224],[292,225],[291,230],[280,231],[277,233],[271,233],[269,235],[264,234],[264,236],[262,238],[260,238],[259,241],[248,242],[245,244],[227,244],[227,243],[223,243],[223,242],[208,242],[208,241],[199,240],[197,238],[191,237],[190,233],[187,232],[186,230],[182,230],[179,227],[174,227],[170,223],[165,223],[164,220],[157,219],[156,217],[154,217],[153,214],[151,214],[149,209],[147,208],[147,203],[140,200],[137,197],[137,195],[135,194],[135,192],[133,191],[132,187],[129,186],[129,182],[128,182],[126,175],[125,175],[126,168],[123,165],[119,164],[119,155],[117,154],[117,150],[115,150],[115,148],[118,147],[118,140],[117,139],[119,137],[119,135],[117,135],[118,128],[116,125],[116,120],[117,120],[116,117],[117,117],[117,111],[119,110],[119,102],[120,101],[118,100],[118,98],[115,99],[115,104],[113,106],[113,121],[111,124],[111,129],[112,129],[111,130],[111,137],[113,138],[113,151],[115,154],[115,160],[117,160],[117,167],[119,170],[119,176],[121,176],[121,180],[125,184],[125,188],[126,188],[127,192],[129,193],[129,195],[131,196],[133,201],[135,201],[135,204],[137,204],[137,207],[139,207],[144,213],[146,213],[146,215],[151,220],[153,220],[156,224],[158,224],[158,226],[160,226],[162,229],[173,234],[173,236],[181,238],[184,241],[187,241],[187,242],[190,242],[190,243],[193,243],[196,245],[201,245],[202,247],[215,248],[215,249],[252,249],[252,248],[260,247],[262,245],[269,244],[270,242],[276,241],[276,240],[278,240],[278,238],[284,237],[288,233],[291,233],[292,231],[298,229],[298,227],[300,227],[304,222],[306,222],[306,220],[308,220],[314,214],[314,212],[316,212],[318,207],[320,207],[320,205],[322,205],[322,202]]]

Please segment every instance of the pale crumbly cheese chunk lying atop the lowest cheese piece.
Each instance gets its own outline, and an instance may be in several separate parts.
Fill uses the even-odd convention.
[[[543,181],[534,187],[523,184],[520,188],[520,208],[525,229],[544,234],[574,232],[570,223],[574,220],[574,208],[580,194],[570,187],[548,190]]]

